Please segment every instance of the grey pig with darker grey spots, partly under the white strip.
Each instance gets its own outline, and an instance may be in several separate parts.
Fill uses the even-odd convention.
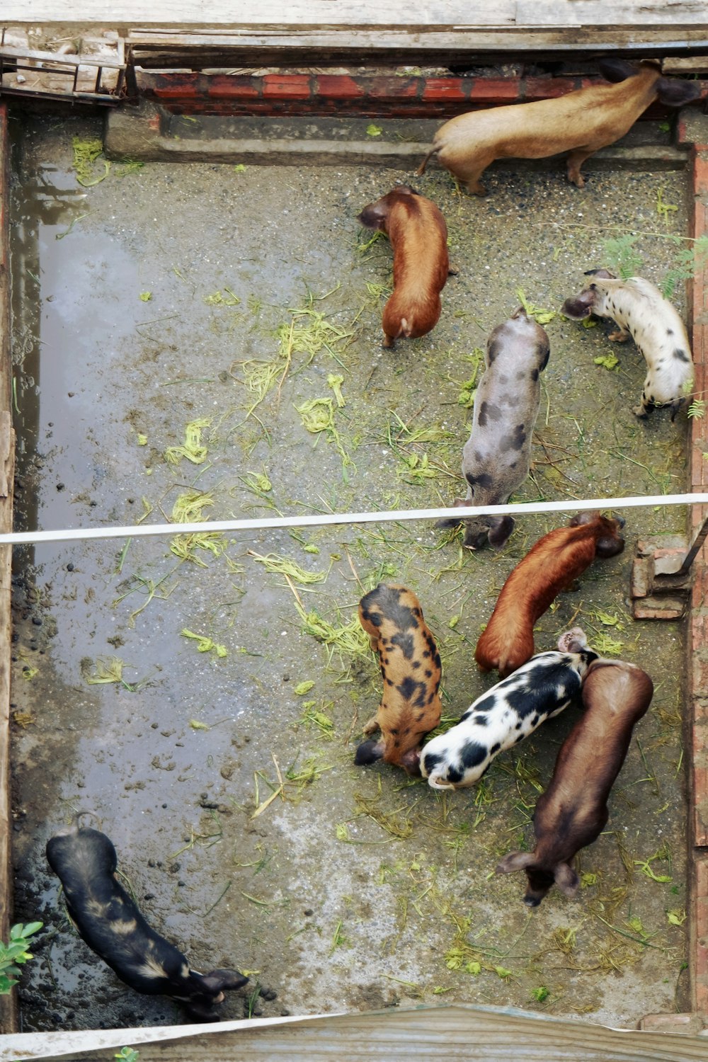
[[[462,455],[467,496],[455,506],[503,506],[523,483],[540,402],[538,377],[548,358],[548,336],[523,307],[489,336],[472,430]],[[444,520],[441,526],[453,523]],[[501,549],[513,530],[511,516],[466,519],[464,544],[479,549],[488,537],[490,546]]]

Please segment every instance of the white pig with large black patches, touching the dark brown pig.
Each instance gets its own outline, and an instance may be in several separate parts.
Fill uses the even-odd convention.
[[[478,697],[455,726],[424,746],[420,773],[434,789],[474,785],[498,753],[568,706],[594,660],[583,631],[566,631],[557,650],[532,656]]]

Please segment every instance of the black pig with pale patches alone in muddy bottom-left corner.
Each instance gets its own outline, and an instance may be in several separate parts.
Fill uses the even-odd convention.
[[[145,995],[172,996],[195,1021],[219,1021],[213,1008],[224,990],[239,989],[248,978],[234,970],[190,970],[114,877],[118,859],[105,834],[75,825],[61,830],[47,842],[47,859],[80,936],[122,981]]]

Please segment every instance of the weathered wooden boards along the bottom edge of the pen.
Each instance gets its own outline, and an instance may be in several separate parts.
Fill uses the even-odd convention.
[[[158,1042],[158,1041],[163,1042]],[[170,1042],[172,1041],[172,1042]],[[0,1043],[0,1062],[17,1058],[111,1062],[117,1048],[140,1062],[705,1062],[706,1038],[609,1029],[510,1007],[450,1005],[221,1026],[171,1026],[83,1033],[28,1033]]]

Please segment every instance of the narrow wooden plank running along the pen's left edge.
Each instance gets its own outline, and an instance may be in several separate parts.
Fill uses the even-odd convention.
[[[7,108],[0,104],[0,529],[13,526],[15,439],[12,427],[12,358],[10,332],[10,141]],[[10,832],[10,635],[12,548],[0,546],[0,939],[12,921]],[[17,1028],[16,993],[0,996],[0,1032]]]

